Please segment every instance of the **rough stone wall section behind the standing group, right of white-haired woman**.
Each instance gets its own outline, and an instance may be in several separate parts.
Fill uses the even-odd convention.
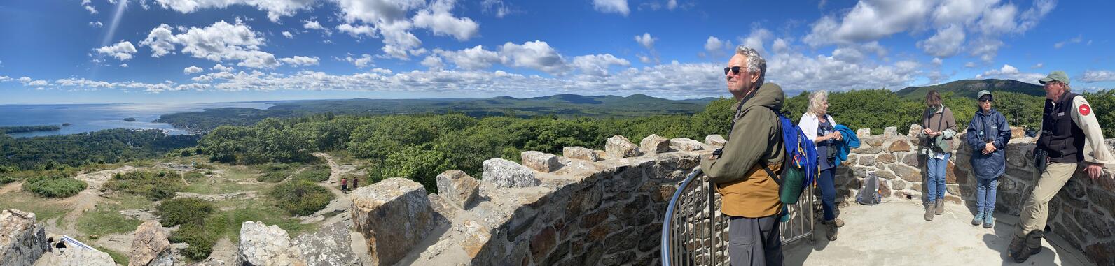
[[[854,199],[863,178],[874,171],[882,180],[884,197],[923,200],[924,155],[918,152],[917,132],[921,128],[913,125],[906,135],[899,135],[895,128],[886,128],[882,136],[871,136],[870,130],[859,130],[861,146],[852,150],[849,160],[837,167],[837,193]],[[1019,130],[1020,131],[1020,130]],[[947,203],[963,204],[972,214],[976,208],[976,175],[972,171],[971,154],[968,145],[953,139],[957,147],[947,169]],[[1034,189],[1039,178],[1034,167],[1035,138],[1016,132],[1007,145],[1007,171],[999,179],[996,211],[1017,216],[1021,205]],[[1115,139],[1107,140],[1108,147]],[[1086,150],[1089,152],[1089,150]],[[1083,166],[1082,166],[1083,167]],[[1075,176],[1049,203],[1047,225],[1053,233],[1065,238],[1074,247],[1098,265],[1115,264],[1115,180],[1113,171],[1105,169],[1098,179],[1090,179],[1077,171]]]

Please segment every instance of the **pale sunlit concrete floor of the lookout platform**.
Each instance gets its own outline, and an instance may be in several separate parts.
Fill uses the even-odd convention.
[[[890,200],[890,201],[886,201]],[[814,237],[784,247],[786,265],[1092,265],[1070,245],[1050,236],[1024,264],[1007,257],[1017,216],[995,214],[992,228],[971,225],[968,208],[947,204],[927,221],[919,201],[884,199],[876,206],[841,208],[844,227],[835,242],[817,225]]]

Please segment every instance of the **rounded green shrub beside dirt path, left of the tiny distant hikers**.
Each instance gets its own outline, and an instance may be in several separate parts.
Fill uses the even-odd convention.
[[[292,179],[277,185],[269,195],[279,208],[291,215],[306,216],[321,210],[333,200],[329,189],[310,180]]]

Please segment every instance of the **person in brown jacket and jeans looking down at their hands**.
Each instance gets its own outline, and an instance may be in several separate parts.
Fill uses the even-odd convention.
[[[941,102],[937,90],[925,93],[929,108],[921,118],[921,152],[925,154],[925,220],[944,213],[944,177],[952,157],[952,137],[957,135],[957,119]]]

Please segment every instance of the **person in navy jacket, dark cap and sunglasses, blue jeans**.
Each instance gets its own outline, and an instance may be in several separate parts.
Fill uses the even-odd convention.
[[[983,224],[983,228],[995,226],[995,194],[999,177],[1007,171],[1006,148],[1010,141],[1010,126],[1007,117],[991,108],[991,92],[981,90],[976,95],[979,110],[968,124],[964,134],[972,148],[971,164],[976,173],[976,217],[972,225]]]

